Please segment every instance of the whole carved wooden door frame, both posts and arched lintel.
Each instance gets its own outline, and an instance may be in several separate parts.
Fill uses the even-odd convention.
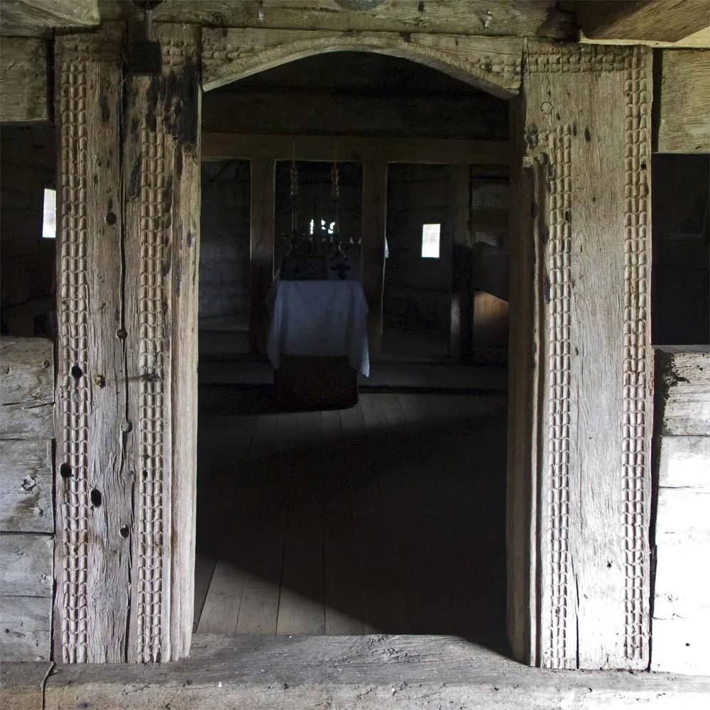
[[[508,635],[515,657],[532,665],[646,667],[648,50],[212,29],[200,44],[196,27],[157,31],[163,75],[132,84],[124,83],[122,26],[57,39],[57,470],[67,474],[56,484],[57,660],[173,660],[190,648],[197,67],[209,89],[307,55],[360,50],[422,62],[512,99],[511,185],[520,200],[511,230]],[[596,142],[604,121],[615,153]],[[599,165],[602,153],[608,166]],[[595,222],[594,180],[607,173],[611,195],[596,212],[608,219]],[[596,231],[586,234],[587,222]],[[585,240],[596,258],[580,256]],[[585,330],[585,283],[618,295],[596,345]],[[578,414],[587,403],[575,396],[594,383],[590,368],[613,377],[600,398],[608,420],[601,439],[586,443]],[[607,450],[595,468],[590,457]],[[608,578],[588,559],[588,539]],[[599,616],[605,603],[612,621]]]

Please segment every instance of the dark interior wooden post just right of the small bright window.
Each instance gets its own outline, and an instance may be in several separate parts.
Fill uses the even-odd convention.
[[[471,355],[471,166],[449,167],[449,212],[452,232],[451,334],[454,358]]]

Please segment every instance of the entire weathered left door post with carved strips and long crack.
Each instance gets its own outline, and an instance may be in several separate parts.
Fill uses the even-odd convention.
[[[190,648],[199,33],[170,25],[155,37],[157,77],[123,75],[121,26],[57,40],[64,662],[172,660]]]

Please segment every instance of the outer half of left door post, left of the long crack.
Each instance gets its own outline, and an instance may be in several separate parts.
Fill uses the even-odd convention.
[[[126,654],[131,489],[122,305],[121,26],[55,43],[58,343],[55,655]],[[133,344],[135,334],[130,333]]]

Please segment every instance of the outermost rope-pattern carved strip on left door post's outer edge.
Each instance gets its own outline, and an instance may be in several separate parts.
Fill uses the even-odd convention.
[[[87,58],[67,51],[60,69],[60,506],[64,569],[58,604],[62,662],[87,661],[87,484],[89,388],[71,369],[87,368]],[[67,469],[66,467],[69,466]]]

